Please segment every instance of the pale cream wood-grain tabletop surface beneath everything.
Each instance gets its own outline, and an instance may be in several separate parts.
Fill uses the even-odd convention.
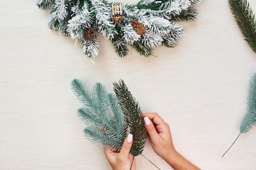
[[[135,0],[130,3],[135,3]],[[256,12],[256,1],[249,0]],[[1,2],[0,170],[110,170],[103,149],[83,136],[74,78],[92,86],[122,78],[143,112],[170,125],[176,149],[204,170],[255,170],[256,128],[242,134],[249,79],[256,54],[243,40],[227,0],[203,0],[196,22],[157,57],[135,51],[119,58],[100,36],[92,64],[68,37],[47,28],[48,12],[33,1]],[[144,155],[171,170],[147,142]],[[138,156],[138,170],[155,170]]]

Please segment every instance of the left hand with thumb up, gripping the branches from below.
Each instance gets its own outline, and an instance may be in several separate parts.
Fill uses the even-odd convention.
[[[120,152],[104,148],[105,156],[112,167],[112,170],[136,170],[136,160],[132,162],[133,156],[130,154],[132,148],[132,134],[129,134],[124,140],[124,144]]]

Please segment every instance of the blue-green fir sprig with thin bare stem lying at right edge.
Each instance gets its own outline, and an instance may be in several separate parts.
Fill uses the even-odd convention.
[[[236,137],[236,140],[241,135],[241,133],[248,132],[253,126],[256,126],[256,73],[254,73],[251,77],[251,81],[249,82],[249,95],[247,97],[247,112],[243,117],[240,132]],[[236,140],[233,142],[231,146],[234,145]],[[228,150],[231,148],[228,148]],[[227,150],[227,151],[228,151]],[[227,153],[227,151],[222,155],[222,157]]]

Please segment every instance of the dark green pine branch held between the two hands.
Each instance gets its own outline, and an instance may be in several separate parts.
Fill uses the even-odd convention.
[[[146,128],[142,119],[142,111],[123,80],[119,80],[119,82],[114,82],[113,84],[117,99],[130,128],[130,133],[133,135],[133,145],[130,153],[133,156],[140,155],[146,144],[147,137]]]

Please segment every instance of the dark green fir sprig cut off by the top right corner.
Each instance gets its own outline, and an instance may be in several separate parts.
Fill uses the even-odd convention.
[[[229,0],[231,12],[245,40],[256,53],[256,18],[247,0]]]

